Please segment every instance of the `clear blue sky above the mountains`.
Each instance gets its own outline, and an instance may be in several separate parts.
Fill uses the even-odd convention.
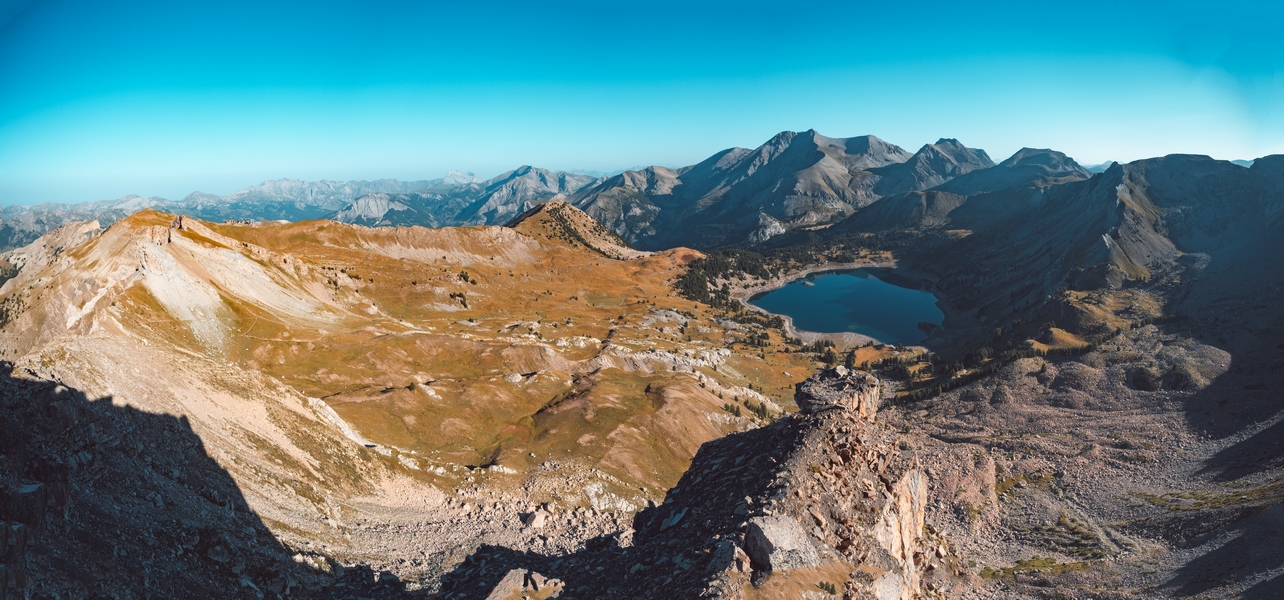
[[[1253,158],[1284,153],[1278,4],[0,0],[0,206],[682,166],[806,128]]]

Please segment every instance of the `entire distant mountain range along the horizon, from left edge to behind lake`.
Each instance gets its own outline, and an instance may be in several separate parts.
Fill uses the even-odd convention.
[[[1252,161],[1233,163],[1248,167]],[[130,195],[9,207],[0,218],[0,249],[24,245],[67,222],[107,225],[141,208],[208,221],[333,218],[440,227],[501,225],[555,199],[583,209],[641,249],[710,249],[837,224],[846,230],[905,218],[930,225],[963,198],[973,198],[973,207],[999,203],[1019,212],[1031,198],[1026,190],[1088,180],[1113,167],[1084,167],[1049,149],[1025,148],[995,164],[985,150],[954,139],[909,153],[872,135],[785,131],[755,149],[731,148],[688,167],[652,166],[602,177],[523,166],[489,180],[458,171],[421,181],[272,180],[222,197],[195,191],[181,200]],[[872,206],[877,208],[867,209]],[[973,209],[951,218],[966,221]]]

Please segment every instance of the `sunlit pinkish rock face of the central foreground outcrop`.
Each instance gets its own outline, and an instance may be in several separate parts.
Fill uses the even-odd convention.
[[[927,482],[917,457],[901,452],[895,434],[876,423],[878,380],[844,367],[797,385],[801,414],[795,443],[787,446],[776,481],[760,496],[759,511],[795,520],[822,560],[849,573],[845,596],[912,599],[923,595],[924,572],[944,574],[945,552],[923,529]],[[774,427],[774,425],[773,425]],[[756,550],[751,519],[746,546]],[[777,534],[779,537],[779,534]],[[783,540],[782,540],[783,541]],[[777,570],[769,558],[750,551],[755,574]],[[727,574],[722,582],[732,583]],[[931,588],[944,579],[932,579]],[[732,587],[732,586],[728,586]],[[736,597],[736,595],[727,595]]]

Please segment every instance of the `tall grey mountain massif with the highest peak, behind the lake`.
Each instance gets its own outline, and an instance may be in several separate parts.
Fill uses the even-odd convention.
[[[642,248],[761,242],[869,204],[878,198],[873,170],[910,157],[874,136],[785,131],[691,167],[610,177],[571,203]]]

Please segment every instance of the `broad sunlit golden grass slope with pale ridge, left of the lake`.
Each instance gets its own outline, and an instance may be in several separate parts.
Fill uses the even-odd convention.
[[[535,486],[568,461],[610,488],[594,504],[639,506],[700,443],[754,425],[725,406],[787,405],[811,365],[736,347],[677,297],[670,281],[698,253],[632,251],[592,225],[565,203],[512,227],[439,230],[144,211],[22,272],[0,298],[14,308],[0,352],[191,415],[213,448],[241,452],[234,475],[286,465],[247,483],[304,482],[318,515],[388,478],[449,487],[462,466],[493,465]],[[347,465],[338,477],[330,460]]]

